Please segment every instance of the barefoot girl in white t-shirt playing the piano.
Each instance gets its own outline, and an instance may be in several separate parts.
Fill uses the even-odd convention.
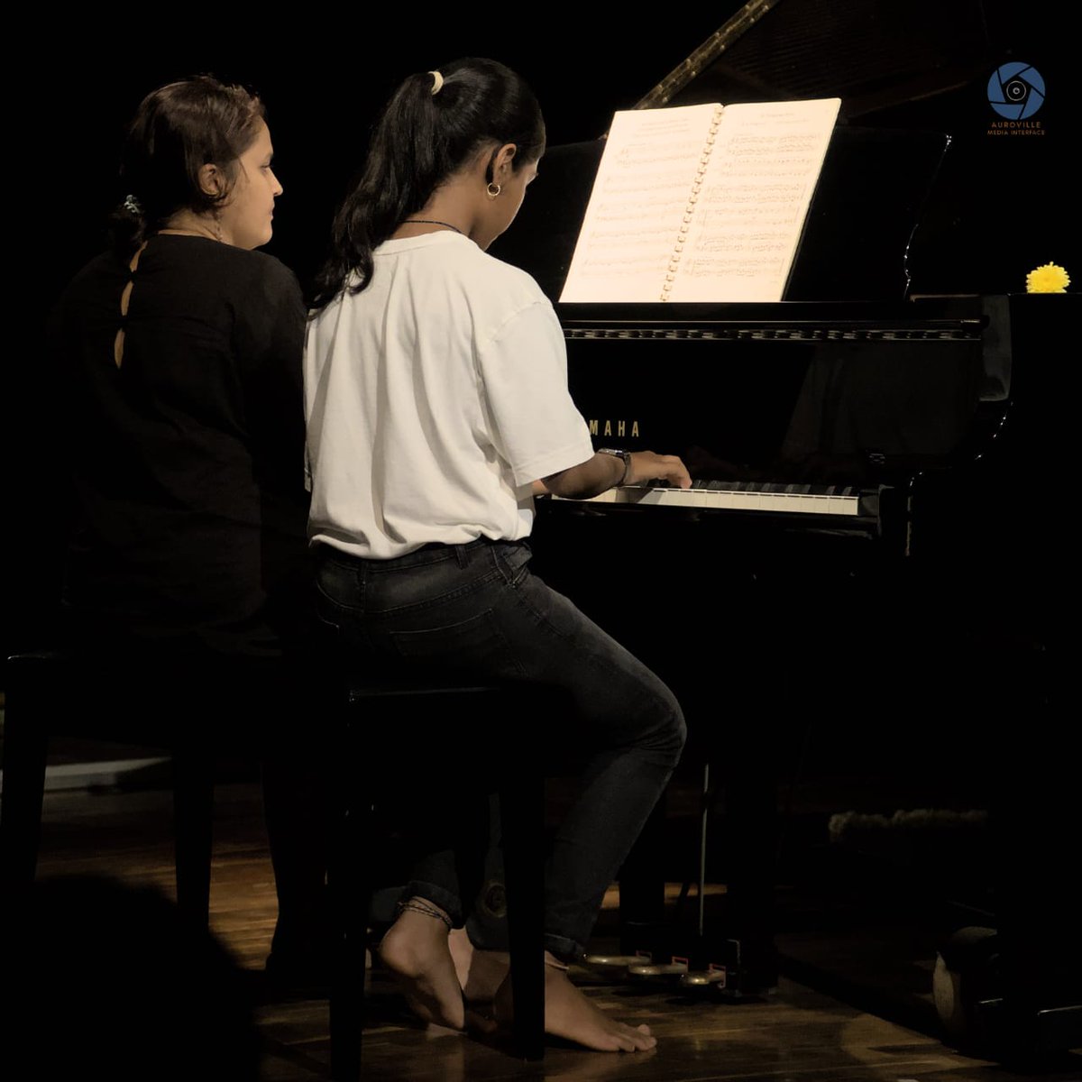
[[[569,691],[569,751],[588,762],[546,869],[545,1027],[635,1051],[649,1031],[598,1010],[567,966],[679,757],[684,720],[654,673],[530,573],[527,538],[536,491],[690,480],[674,457],[594,452],[552,305],[486,254],[543,150],[536,98],[492,61],[410,76],[391,98],[317,280],[308,537],[320,615],[364,658]],[[426,859],[380,951],[422,1017],[462,1028],[456,884]],[[497,1017],[510,1010],[505,981]]]

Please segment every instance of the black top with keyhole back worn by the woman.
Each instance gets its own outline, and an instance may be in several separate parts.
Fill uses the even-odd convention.
[[[107,253],[75,278],[49,358],[71,464],[77,638],[266,655],[295,633],[304,321],[281,263],[199,237],[153,237],[134,273]]]

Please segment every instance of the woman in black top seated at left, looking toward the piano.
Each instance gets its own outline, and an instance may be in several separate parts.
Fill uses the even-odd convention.
[[[224,673],[280,689],[304,639],[305,306],[293,274],[255,251],[282,192],[272,154],[263,106],[239,87],[204,76],[149,94],[113,251],[77,275],[50,327],[75,497],[70,638],[133,674],[206,677],[193,724],[230,720]],[[278,709],[254,726],[295,734],[304,689],[285,684],[260,697]],[[279,956],[307,953],[290,928],[307,927],[322,888],[321,835],[308,823],[312,842],[292,842],[292,813],[314,806],[287,800],[298,806],[281,814],[296,781],[267,786]]]

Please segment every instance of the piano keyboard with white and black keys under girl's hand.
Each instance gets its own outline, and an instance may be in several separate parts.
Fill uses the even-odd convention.
[[[554,497],[560,499],[560,497]],[[845,515],[874,513],[874,494],[833,485],[754,485],[750,481],[696,480],[690,488],[625,485],[610,488],[586,503],[626,503],[648,507],[704,511],[760,511],[773,514]]]

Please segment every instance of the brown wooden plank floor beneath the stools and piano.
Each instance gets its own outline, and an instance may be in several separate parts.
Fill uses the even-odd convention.
[[[171,893],[170,820],[170,795],[159,788],[48,792],[39,879],[106,874]],[[275,895],[259,791],[250,779],[234,779],[219,788],[212,874],[213,932],[250,976],[259,995],[274,928]],[[598,924],[597,941],[592,945],[598,951],[615,949],[615,942],[606,939],[611,916],[606,911]],[[807,934],[803,935],[807,940]],[[874,944],[860,942],[859,937],[844,939],[836,932],[817,933],[816,949],[829,951],[831,935],[839,937],[834,940],[839,951],[874,954],[876,950]],[[787,946],[795,950],[799,939],[794,933],[792,944],[787,945],[783,936],[779,942],[783,950]],[[154,945],[147,944],[146,950],[154,950]],[[925,971],[931,981],[926,964]],[[500,1042],[419,1028],[375,971],[370,975],[365,1078],[412,1082],[535,1078],[586,1082],[610,1077],[673,1082],[1082,1079],[1080,1055],[1065,1055],[1040,1076],[1007,1070],[953,1051],[934,1032],[907,1028],[789,977],[782,977],[776,994],[736,1003],[709,997],[687,999],[676,986],[612,984],[585,969],[578,977],[606,1010],[633,1024],[648,1022],[659,1039],[657,1050],[620,1056],[553,1045],[542,1064],[526,1065]],[[88,994],[93,994],[92,980],[88,980]],[[198,995],[198,990],[192,994]],[[325,1001],[262,1002],[255,1017],[261,1082],[328,1077]]]

